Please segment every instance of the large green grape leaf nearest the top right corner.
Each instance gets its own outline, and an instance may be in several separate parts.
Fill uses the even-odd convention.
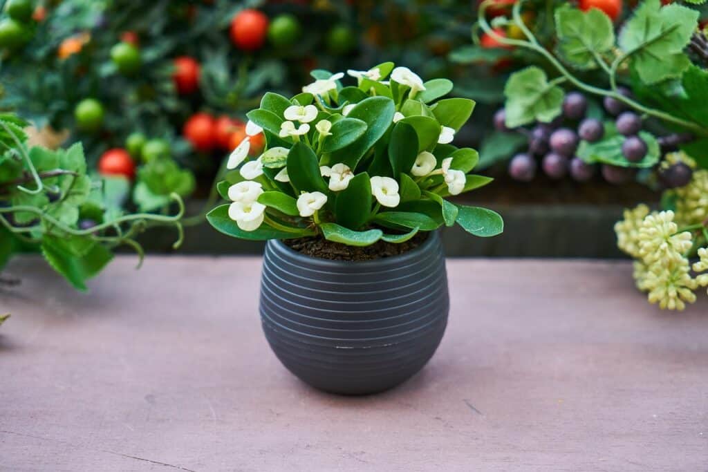
[[[634,11],[619,34],[619,47],[646,84],[680,76],[691,64],[683,52],[693,34],[699,13],[659,0],[646,0]]]

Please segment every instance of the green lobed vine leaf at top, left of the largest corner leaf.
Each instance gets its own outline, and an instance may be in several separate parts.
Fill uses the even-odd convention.
[[[610,17],[598,8],[583,12],[569,5],[556,8],[558,50],[566,62],[578,69],[595,69],[595,57],[615,47],[615,28]]]

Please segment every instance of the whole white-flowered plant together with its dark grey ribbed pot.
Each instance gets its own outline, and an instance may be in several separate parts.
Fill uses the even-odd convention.
[[[218,185],[230,203],[207,219],[236,238],[268,240],[261,320],[287,369],[325,391],[374,393],[418,372],[438,347],[449,299],[435,231],[455,223],[501,233],[489,209],[449,202],[490,178],[479,156],[450,144],[474,102],[445,98],[452,82],[387,62],[344,74],[314,71],[285,98],[266,93],[249,137]],[[390,78],[389,78],[390,75]]]

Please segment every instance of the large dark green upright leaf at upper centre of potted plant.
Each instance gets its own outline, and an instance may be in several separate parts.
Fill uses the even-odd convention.
[[[396,107],[390,98],[370,97],[360,101],[347,117],[365,122],[366,132],[352,144],[334,152],[333,161],[346,163],[355,169],[362,156],[386,133],[393,122],[394,113]]]

